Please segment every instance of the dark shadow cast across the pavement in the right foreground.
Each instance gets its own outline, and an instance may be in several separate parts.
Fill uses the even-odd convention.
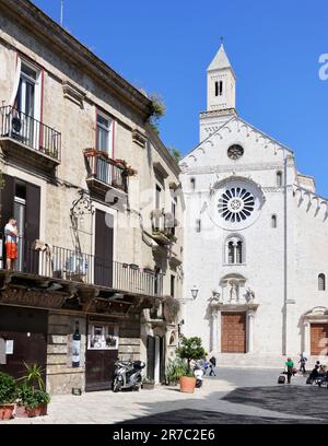
[[[192,398],[179,401],[174,408],[172,401],[161,401],[163,412],[160,413],[152,413],[159,403],[143,403],[148,414],[118,424],[326,424],[327,399],[327,389],[316,386],[241,387],[229,394],[210,394],[206,401],[197,402]],[[241,406],[227,408],[227,412],[234,412],[227,413],[223,404],[218,406],[219,401]],[[211,410],[215,404],[218,411]],[[278,412],[279,415],[263,414],[258,409]]]

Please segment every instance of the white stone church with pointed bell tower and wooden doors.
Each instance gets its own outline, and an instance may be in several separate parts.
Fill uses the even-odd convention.
[[[200,336],[219,364],[327,356],[328,200],[292,150],[238,116],[235,84],[221,45],[200,143],[180,162],[183,332]]]

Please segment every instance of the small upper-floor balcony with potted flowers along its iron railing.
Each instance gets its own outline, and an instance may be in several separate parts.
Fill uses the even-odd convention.
[[[112,189],[128,192],[129,172],[119,162],[95,149],[83,151],[86,162],[86,183],[91,191],[105,196]]]

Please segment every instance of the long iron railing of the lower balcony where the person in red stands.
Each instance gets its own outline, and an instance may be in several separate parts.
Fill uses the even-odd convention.
[[[0,244],[1,246],[1,244]],[[5,257],[5,248],[3,248]],[[162,296],[163,274],[99,256],[20,238],[14,271],[96,285],[134,295]],[[1,257],[1,253],[0,253]],[[5,268],[4,263],[0,266]]]

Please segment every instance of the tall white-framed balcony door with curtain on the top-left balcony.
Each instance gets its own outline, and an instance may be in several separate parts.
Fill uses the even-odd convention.
[[[40,136],[39,72],[25,63],[22,63],[15,105],[19,121],[13,124],[13,133],[21,142],[37,150]]]

